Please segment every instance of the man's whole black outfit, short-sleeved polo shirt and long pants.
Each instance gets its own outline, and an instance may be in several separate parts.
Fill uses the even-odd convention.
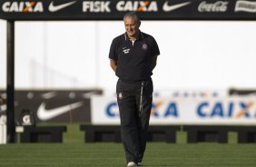
[[[127,162],[142,162],[152,107],[152,58],[159,55],[153,36],[140,32],[130,41],[127,34],[113,39],[109,58],[117,63],[117,103]]]

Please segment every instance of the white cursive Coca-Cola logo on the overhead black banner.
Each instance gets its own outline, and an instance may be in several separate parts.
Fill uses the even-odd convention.
[[[216,1],[215,3],[207,3],[202,1],[198,6],[199,12],[226,12],[228,9],[229,2],[227,1]]]

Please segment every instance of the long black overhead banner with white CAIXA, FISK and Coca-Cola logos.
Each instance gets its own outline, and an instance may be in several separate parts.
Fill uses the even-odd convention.
[[[1,0],[7,20],[256,20],[256,0]]]

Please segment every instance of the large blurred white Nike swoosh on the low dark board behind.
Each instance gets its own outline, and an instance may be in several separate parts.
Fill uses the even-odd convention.
[[[70,103],[61,107],[57,107],[51,110],[45,109],[45,103],[41,103],[41,105],[37,109],[37,117],[42,121],[50,120],[58,115],[74,110],[78,107],[81,107],[84,102]]]

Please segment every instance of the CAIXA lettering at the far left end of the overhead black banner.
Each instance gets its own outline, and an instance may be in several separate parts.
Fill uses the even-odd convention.
[[[5,2],[2,5],[2,9],[4,12],[29,12],[29,13],[37,13],[44,12],[44,6],[42,2]]]

